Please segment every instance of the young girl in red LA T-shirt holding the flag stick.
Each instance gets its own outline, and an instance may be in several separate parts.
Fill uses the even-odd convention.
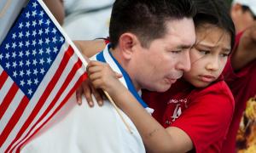
[[[235,28],[221,0],[195,3],[197,40],[190,51],[191,70],[184,72],[183,78],[166,93],[143,93],[145,101],[154,108],[154,118],[166,130],[123,87],[108,65],[96,61],[88,65],[94,87],[107,91],[131,118],[148,152],[154,146],[160,148],[160,135],[165,133],[170,134],[168,140],[172,142],[168,151],[177,145],[183,150],[172,151],[220,152],[230,126],[234,99],[221,73],[234,44]],[[152,139],[159,139],[159,143]]]

